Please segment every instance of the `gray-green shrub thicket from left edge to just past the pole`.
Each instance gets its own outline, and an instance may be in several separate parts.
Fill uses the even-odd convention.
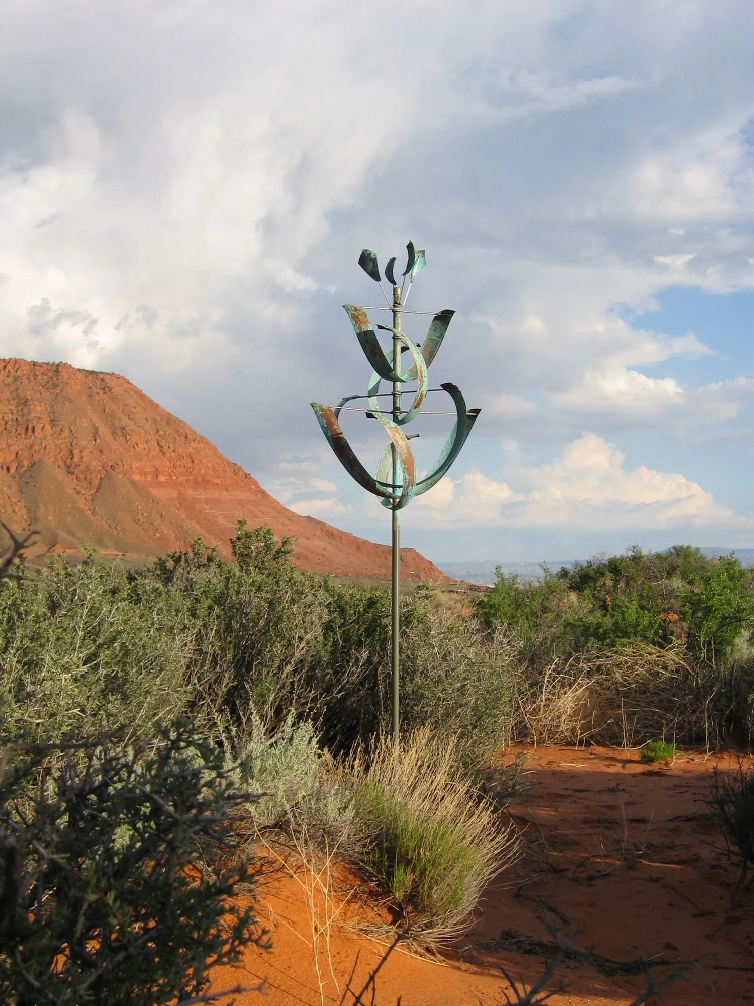
[[[197,541],[152,569],[89,558],[0,584],[6,729],[127,723],[139,737],[186,713],[217,736],[254,710],[269,735],[309,718],[339,750],[386,726],[388,592],[297,569],[269,528],[241,521],[232,544],[233,562]],[[431,593],[404,599],[403,617],[406,727],[493,745],[510,704],[501,652]]]

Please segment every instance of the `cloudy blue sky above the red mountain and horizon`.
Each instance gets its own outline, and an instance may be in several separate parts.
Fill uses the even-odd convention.
[[[410,306],[457,312],[432,382],[483,412],[406,544],[753,546],[753,49],[745,0],[9,0],[0,349],[118,370],[384,541],[309,402],[364,389],[341,305],[410,237]]]

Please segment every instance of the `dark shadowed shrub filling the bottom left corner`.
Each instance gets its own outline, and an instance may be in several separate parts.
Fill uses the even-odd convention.
[[[185,722],[136,748],[13,742],[0,778],[0,992],[13,1006],[173,1003],[262,945],[227,865],[249,801]]]

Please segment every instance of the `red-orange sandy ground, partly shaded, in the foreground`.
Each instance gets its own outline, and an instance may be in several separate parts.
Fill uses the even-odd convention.
[[[735,760],[683,752],[673,765],[649,767],[636,751],[524,750],[530,786],[510,810],[525,838],[525,858],[487,891],[473,931],[444,960],[396,950],[376,976],[374,1002],[505,1003],[500,965],[527,983],[542,972],[542,956],[517,952],[522,945],[514,945],[511,931],[528,938],[530,948],[533,941],[551,942],[544,903],[575,948],[623,962],[639,952],[658,957],[668,964],[654,969],[657,977],[681,961],[704,958],[690,976],[666,987],[667,1006],[754,1001],[754,892],[736,892],[738,871],[704,804],[713,768],[730,768]],[[213,976],[215,988],[266,979],[269,1003],[337,1003],[355,969],[351,985],[361,990],[384,954],[380,943],[353,932],[378,920],[368,892],[341,870],[330,885],[335,900],[326,905],[317,891],[308,896],[302,877],[278,874],[263,882],[259,907],[272,951],[249,951],[242,969]],[[339,908],[329,941],[327,926],[313,939],[312,903],[320,923]],[[606,971],[566,961],[566,989],[551,1002],[618,1006],[645,987],[640,976]],[[237,999],[239,1006],[261,1001],[258,995]],[[346,1006],[353,1001],[346,996]],[[371,990],[365,1001],[372,1001]]]

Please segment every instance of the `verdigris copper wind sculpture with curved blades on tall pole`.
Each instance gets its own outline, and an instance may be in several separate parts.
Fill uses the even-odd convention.
[[[353,304],[343,305],[351,319],[351,324],[354,326],[356,337],[359,340],[361,348],[364,350],[364,355],[373,367],[367,393],[350,394],[341,399],[334,407],[332,405],[321,405],[315,401],[312,402],[312,408],[322,427],[323,433],[343,467],[362,488],[375,496],[379,496],[382,505],[392,511],[392,725],[393,737],[396,741],[398,739],[399,725],[400,675],[400,511],[411,502],[414,496],[420,496],[439,482],[457,458],[466,437],[472,432],[472,427],[477,416],[480,414],[479,408],[466,408],[463,395],[455,384],[444,383],[440,384],[439,387],[427,387],[427,369],[437,355],[437,351],[442,344],[442,339],[445,336],[447,326],[450,324],[450,319],[454,312],[445,310],[435,314],[429,325],[426,338],[421,344],[413,342],[401,331],[402,315],[431,314],[429,311],[405,311],[405,304],[411,290],[411,285],[425,265],[423,250],[415,252],[411,241],[408,242],[406,249],[408,252],[408,263],[403,271],[403,283],[405,286],[405,278],[408,277],[408,285],[405,288],[405,295],[402,288],[395,281],[395,258],[390,259],[385,266],[385,278],[393,288],[393,299],[391,301],[382,286],[377,256],[374,252],[365,248],[359,258],[359,265],[368,276],[379,284],[388,307],[361,308],[355,307]],[[377,333],[367,316],[367,311],[392,312],[392,325],[377,325],[379,330],[392,333],[392,359],[386,355],[380,346]],[[412,361],[411,365],[404,371],[401,370],[402,353],[408,353]],[[383,380],[389,381],[392,384],[391,392],[380,393],[380,385]],[[414,382],[416,384],[415,389],[406,388],[401,390],[402,384],[413,384]],[[424,412],[424,414],[454,414],[455,423],[434,468],[428,475],[417,482],[416,465],[408,441],[411,437],[417,437],[418,434],[409,434],[406,436],[403,433],[403,427],[416,418],[421,411],[426,395],[433,391],[445,391],[450,396],[455,411]],[[413,395],[413,400],[408,408],[403,408],[401,405],[401,396],[404,394]],[[359,398],[368,399],[369,408],[356,408],[346,404]],[[383,409],[380,405],[380,398],[391,398],[391,407]],[[380,460],[377,463],[377,470],[374,476],[370,475],[366,468],[364,468],[343,435],[339,417],[341,411],[344,410],[364,412],[367,418],[379,420],[390,438],[390,443],[382,452]]]

